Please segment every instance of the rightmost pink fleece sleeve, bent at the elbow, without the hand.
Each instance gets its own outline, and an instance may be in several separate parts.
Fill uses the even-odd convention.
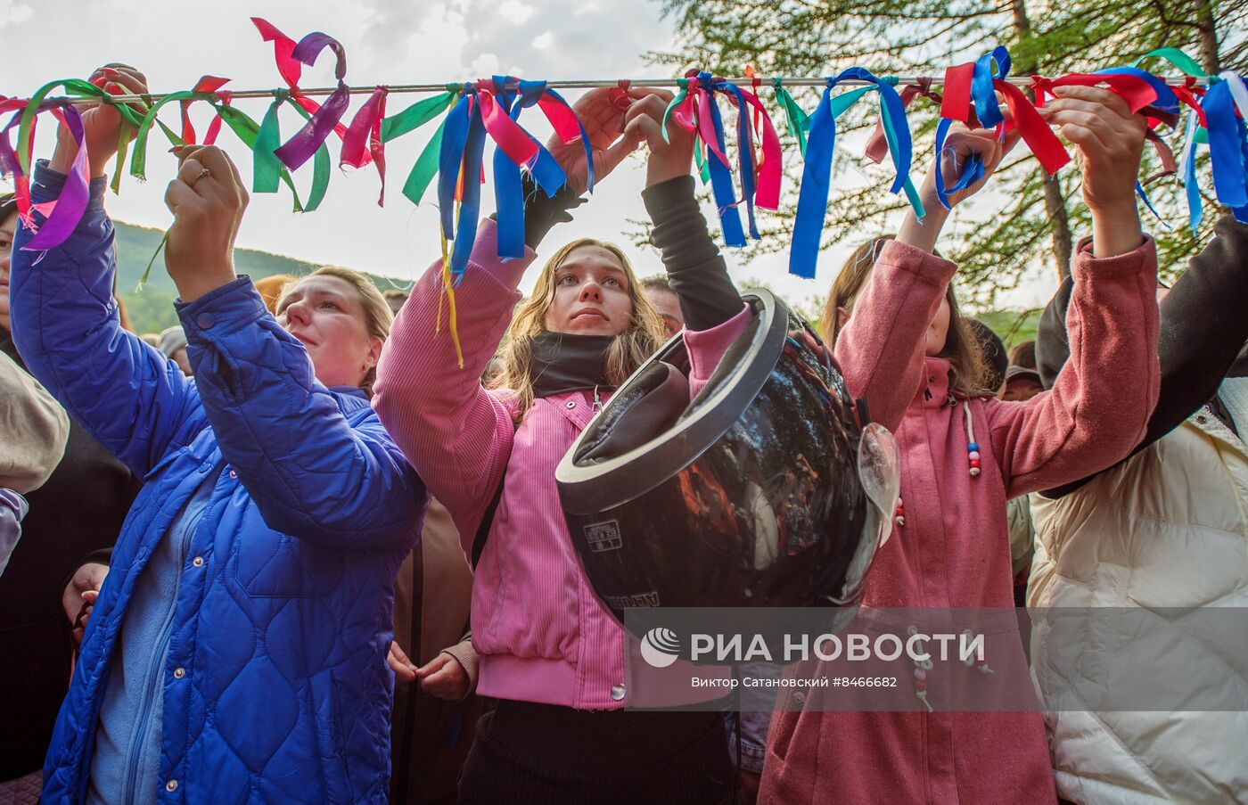
[[[1066,312],[1071,357],[1027,402],[985,401],[1007,497],[1077,481],[1139,442],[1161,392],[1157,248],[1117,257],[1080,250]]]

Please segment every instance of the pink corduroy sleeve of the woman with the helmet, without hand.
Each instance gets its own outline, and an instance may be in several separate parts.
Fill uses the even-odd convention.
[[[507,332],[520,298],[517,285],[535,256],[525,248],[522,258],[500,260],[495,227],[490,220],[482,222],[456,288],[463,368],[448,331],[448,306],[441,298],[439,260],[394,318],[373,396],[377,416],[433,497],[451,512],[466,550],[503,477],[514,438],[504,398],[482,388],[479,378]]]

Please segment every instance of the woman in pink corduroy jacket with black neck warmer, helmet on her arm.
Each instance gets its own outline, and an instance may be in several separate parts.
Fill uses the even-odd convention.
[[[597,90],[577,104],[599,178],[656,131],[670,100],[641,90],[618,95]],[[643,196],[655,242],[681,242],[690,231],[698,242],[699,226],[709,242],[696,203],[693,217],[665,206],[671,185],[689,180],[693,154],[691,140],[675,127],[673,142],[648,163]],[[726,801],[733,766],[719,713],[623,710],[633,699],[623,630],[594,595],[568,537],[554,468],[665,333],[625,256],[598,241],[554,252],[513,317],[533,248],[567,220],[585,186],[580,144],[548,147],[569,187],[549,200],[528,188],[525,256],[499,260],[495,226],[487,220],[456,288],[463,367],[444,320],[434,334],[442,315],[436,263],[394,322],[373,398],[454,518],[466,553],[472,555],[478,529],[488,534],[475,564],[472,633],[480,653],[477,691],[498,705],[478,725],[459,801]],[[711,252],[718,257],[714,245]],[[483,388],[478,378],[504,334],[502,368]]]

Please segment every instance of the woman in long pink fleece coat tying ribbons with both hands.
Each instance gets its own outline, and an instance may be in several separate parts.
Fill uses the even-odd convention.
[[[910,217],[896,241],[859,250],[834,287],[827,339],[851,391],[867,378],[875,389],[892,389],[870,398],[871,416],[901,449],[897,528],[876,555],[864,608],[1012,607],[1006,499],[1113,464],[1156,404],[1156,252],[1141,233],[1133,192],[1144,122],[1107,90],[1070,87],[1058,99],[1042,112],[1080,151],[1093,237],[1071,268],[1071,361],[1050,392],[1027,402],[975,393],[973,347],[948,292],[956,266],[931,253],[947,215],[932,176],[922,191],[924,222]],[[948,140],[955,163],[973,150],[990,168],[1003,145],[986,131]],[[948,154],[941,170],[951,182]],[[877,359],[872,344],[901,337],[899,329],[909,354]],[[1017,665],[1022,645],[1007,620],[1001,634],[986,635],[987,654],[1007,654],[1003,663]],[[956,664],[937,669],[972,674],[948,665]],[[901,684],[914,685],[919,701],[947,689],[936,676],[915,676]],[[795,701],[773,719],[760,801],[1056,800],[1038,713],[821,713],[814,694],[805,710]]]

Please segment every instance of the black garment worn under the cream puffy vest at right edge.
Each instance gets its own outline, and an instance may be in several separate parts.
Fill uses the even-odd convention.
[[[1045,308],[1036,333],[1036,362],[1046,388],[1052,386],[1070,357],[1066,308],[1072,288],[1072,280],[1067,277]],[[1157,344],[1162,369],[1161,398],[1148,419],[1143,439],[1131,456],[1177,428],[1217,393],[1218,384],[1248,339],[1246,311],[1248,225],[1224,216],[1214,227],[1213,240],[1192,258],[1187,271],[1162,300]],[[1045,495],[1060,498],[1093,477],[1047,490]]]

